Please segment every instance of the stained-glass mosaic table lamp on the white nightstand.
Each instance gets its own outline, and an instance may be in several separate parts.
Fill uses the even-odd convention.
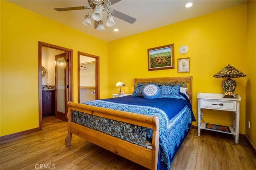
[[[228,78],[222,82],[222,88],[225,94],[224,98],[234,98],[233,94],[236,89],[236,81],[232,80],[231,78],[238,78],[244,76],[246,76],[244,73],[240,72],[229,64],[214,75],[214,77],[216,78]]]

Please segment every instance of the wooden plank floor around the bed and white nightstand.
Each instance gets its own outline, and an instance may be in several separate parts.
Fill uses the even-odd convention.
[[[1,170],[82,169],[145,170],[146,168],[73,135],[65,145],[67,123],[43,118],[43,130],[1,142]],[[191,129],[171,164],[173,170],[255,170],[256,156],[246,141]]]

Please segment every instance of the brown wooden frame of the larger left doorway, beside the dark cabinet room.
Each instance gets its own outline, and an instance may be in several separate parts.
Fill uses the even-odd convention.
[[[69,66],[69,89],[70,89],[70,94],[69,98],[70,101],[74,102],[74,82],[73,82],[73,50],[68,49],[65,47],[60,47],[57,45],[49,44],[49,43],[44,43],[41,41],[38,41],[38,105],[39,105],[39,130],[43,129],[43,123],[42,123],[42,47],[48,47],[60,51],[64,51],[68,53],[68,66]]]

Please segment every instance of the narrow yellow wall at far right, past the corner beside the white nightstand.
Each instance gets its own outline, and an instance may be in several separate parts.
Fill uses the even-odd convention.
[[[256,1],[247,6],[246,136],[256,147]],[[248,129],[250,121],[250,129]]]

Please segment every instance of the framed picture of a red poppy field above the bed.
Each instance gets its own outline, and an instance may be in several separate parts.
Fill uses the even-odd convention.
[[[148,71],[174,68],[174,44],[148,49]]]

